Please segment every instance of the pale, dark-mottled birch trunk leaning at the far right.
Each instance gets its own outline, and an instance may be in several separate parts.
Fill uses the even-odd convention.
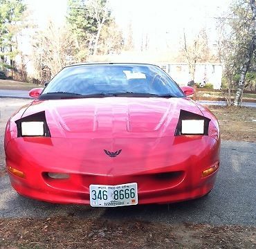
[[[238,82],[238,87],[237,87],[237,93],[235,94],[235,99],[234,99],[234,105],[235,107],[241,105],[241,96],[244,91],[244,83],[246,79],[246,73],[248,71],[248,68],[250,66],[250,61],[253,57],[253,53],[255,52],[255,46],[256,46],[256,6],[255,6],[255,0],[250,0],[250,7],[253,12],[253,25],[254,25],[254,35],[252,42],[250,43],[250,48],[248,49],[246,59],[244,61],[244,64],[241,68],[241,76],[240,80]]]

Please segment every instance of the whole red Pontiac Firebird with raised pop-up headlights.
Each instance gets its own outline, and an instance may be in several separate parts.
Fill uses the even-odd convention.
[[[152,64],[74,64],[6,125],[12,187],[52,203],[113,207],[196,199],[214,187],[214,115]]]

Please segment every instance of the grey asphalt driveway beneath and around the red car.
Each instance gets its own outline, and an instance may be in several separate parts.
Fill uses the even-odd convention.
[[[0,100],[0,166],[3,165],[3,129],[10,113],[29,100]],[[5,103],[5,104],[3,104]],[[143,205],[125,208],[91,208],[82,205],[43,203],[19,196],[0,177],[1,217],[46,217],[75,214],[109,219],[140,219],[163,223],[210,223],[256,225],[256,143],[222,141],[221,168],[214,190],[203,199],[172,205]]]

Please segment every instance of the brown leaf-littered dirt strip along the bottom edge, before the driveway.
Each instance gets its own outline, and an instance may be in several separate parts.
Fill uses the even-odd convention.
[[[0,248],[255,248],[255,228],[145,221],[0,219]]]

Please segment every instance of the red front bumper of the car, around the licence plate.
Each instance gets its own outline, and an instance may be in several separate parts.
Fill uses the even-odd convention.
[[[173,203],[208,194],[217,176],[203,170],[219,164],[219,141],[210,136],[178,136],[115,140],[111,158],[104,154],[109,140],[15,138],[6,148],[6,166],[12,187],[24,196],[52,203],[89,205],[89,185],[138,183],[138,204]],[[47,172],[68,173],[54,179]]]

